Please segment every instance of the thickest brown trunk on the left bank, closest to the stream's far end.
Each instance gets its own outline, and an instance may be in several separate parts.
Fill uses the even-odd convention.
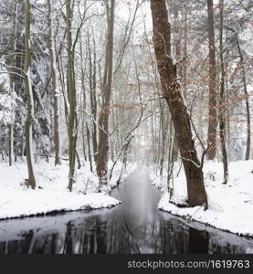
[[[99,154],[97,159],[97,173],[100,177],[100,187],[108,181],[108,159],[109,159],[109,117],[111,105],[111,84],[113,68],[113,29],[114,29],[114,5],[115,0],[111,0],[111,6],[107,5],[108,33],[106,45],[105,71],[103,79],[103,104],[100,112],[100,138]]]

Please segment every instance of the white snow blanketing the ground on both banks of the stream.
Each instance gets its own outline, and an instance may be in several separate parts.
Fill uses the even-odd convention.
[[[75,174],[76,183],[69,193],[69,165],[36,163],[37,188],[32,190],[25,185],[27,178],[26,163],[8,166],[0,163],[0,219],[45,215],[52,212],[99,209],[119,205],[121,202],[109,195],[116,186],[121,174],[121,163],[115,167],[107,189],[97,193],[98,177],[90,172],[89,165],[83,165]],[[112,163],[109,165],[109,170]],[[136,164],[129,164],[121,181],[133,170]],[[175,216],[182,216],[187,221],[198,221],[240,236],[253,237],[253,161],[229,163],[228,184],[223,183],[222,163],[206,162],[204,165],[208,209],[202,206],[182,207],[187,199],[184,168],[180,163],[174,165],[174,180],[170,187],[173,195],[168,194],[167,179],[149,171],[149,177],[163,195],[158,208]]]

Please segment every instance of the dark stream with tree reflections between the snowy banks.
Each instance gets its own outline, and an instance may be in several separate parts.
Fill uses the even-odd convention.
[[[253,253],[253,240],[157,210],[160,192],[136,171],[112,209],[0,221],[0,254]]]

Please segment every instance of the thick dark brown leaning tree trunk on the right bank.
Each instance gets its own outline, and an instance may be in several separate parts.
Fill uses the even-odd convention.
[[[164,0],[151,0],[153,46],[157,67],[168,103],[187,181],[188,204],[207,206],[202,166],[195,151],[189,113],[184,105],[181,88],[176,80],[176,67],[171,57],[171,26]]]

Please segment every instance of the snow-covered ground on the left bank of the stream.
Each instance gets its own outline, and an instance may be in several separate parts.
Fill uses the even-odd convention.
[[[122,180],[133,168],[129,166]],[[77,170],[76,183],[72,193],[69,193],[68,173],[66,161],[56,167],[52,163],[37,163],[37,188],[33,190],[24,184],[27,178],[26,163],[15,163],[13,166],[0,163],[0,219],[111,207],[121,203],[108,195],[117,183],[120,173],[117,168],[107,193],[96,193],[99,180],[95,174],[90,173],[88,165]]]

